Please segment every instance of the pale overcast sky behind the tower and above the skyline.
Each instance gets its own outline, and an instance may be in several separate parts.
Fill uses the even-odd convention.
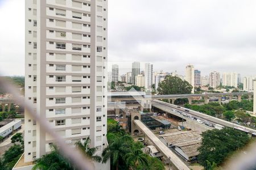
[[[109,62],[256,74],[256,1],[109,0]],[[24,0],[0,0],[0,70],[24,74]],[[111,65],[109,65],[111,67]],[[123,69],[123,70],[122,70]]]

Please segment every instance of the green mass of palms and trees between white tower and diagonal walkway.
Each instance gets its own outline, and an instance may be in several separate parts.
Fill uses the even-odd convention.
[[[117,122],[108,120],[108,143],[102,153],[102,160],[110,159],[110,169],[164,169],[158,158],[151,158],[142,152],[141,142],[134,142]]]

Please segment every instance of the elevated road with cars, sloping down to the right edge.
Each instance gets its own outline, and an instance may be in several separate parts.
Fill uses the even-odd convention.
[[[186,110],[189,111],[187,113],[192,114],[193,116],[196,116],[196,117],[200,117],[201,119],[207,120],[207,121],[212,122],[214,124],[219,124],[219,125],[230,127],[230,128],[238,128],[238,129],[242,128],[242,129],[245,129],[245,130],[249,131],[249,133],[256,133],[256,130],[254,130],[254,129],[247,128],[247,127],[241,126],[241,125],[237,125],[237,124],[234,124],[233,122],[225,121],[225,120],[222,120],[220,118],[209,116],[209,115],[204,114],[204,113],[192,111],[191,109],[187,109],[187,108],[183,108],[183,107],[177,108],[177,105],[166,103],[164,101],[154,100],[154,101],[152,101],[152,106],[154,106],[156,108],[159,107],[159,106],[162,107],[162,108],[164,107],[164,108],[168,109],[169,111],[171,111],[172,109],[175,108],[179,111],[186,112],[185,111],[185,109],[186,109]],[[176,116],[182,117],[179,114],[177,114]]]

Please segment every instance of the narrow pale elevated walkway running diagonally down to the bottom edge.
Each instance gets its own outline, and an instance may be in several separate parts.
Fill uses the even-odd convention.
[[[167,158],[169,158],[177,169],[189,170],[190,168],[174,153],[160,141],[158,137],[150,129],[147,128],[140,120],[134,120],[134,124],[143,131],[143,133],[154,143],[155,147]]]

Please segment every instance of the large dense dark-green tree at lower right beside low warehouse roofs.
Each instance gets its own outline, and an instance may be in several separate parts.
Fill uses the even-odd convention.
[[[232,128],[208,130],[202,137],[198,161],[205,169],[221,165],[229,155],[249,142],[246,133]]]

